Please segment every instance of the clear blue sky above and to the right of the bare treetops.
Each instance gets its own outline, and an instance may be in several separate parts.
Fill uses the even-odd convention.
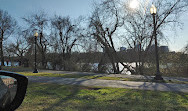
[[[23,25],[22,17],[40,10],[49,16],[55,14],[71,18],[77,18],[80,15],[88,16],[92,11],[93,2],[94,0],[0,0],[0,9],[8,11],[19,25]],[[183,23],[182,30],[177,30],[175,33],[166,32],[171,51],[181,51],[188,43],[188,13],[181,17],[181,22]]]

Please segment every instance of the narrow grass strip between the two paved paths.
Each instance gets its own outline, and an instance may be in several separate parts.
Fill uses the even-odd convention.
[[[140,82],[157,82],[153,80],[145,79],[134,79],[134,78],[121,78],[121,77],[106,77],[106,76],[97,76],[97,75],[88,75],[88,74],[53,74],[53,73],[32,73],[32,72],[17,72],[25,76],[46,76],[46,77],[64,77],[64,78],[83,78],[83,79],[103,79],[103,80],[121,80],[121,81],[140,81]],[[177,83],[177,84],[188,84],[185,81],[159,81],[163,83]]]

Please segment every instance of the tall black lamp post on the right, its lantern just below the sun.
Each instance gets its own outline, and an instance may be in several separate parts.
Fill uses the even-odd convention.
[[[151,6],[150,13],[153,16],[153,25],[154,25],[153,35],[154,35],[154,38],[155,38],[155,57],[156,57],[156,69],[157,69],[154,79],[155,80],[163,80],[163,78],[160,74],[160,70],[159,70],[159,54],[158,54],[158,46],[157,46],[156,20],[155,20],[157,8],[154,5]]]

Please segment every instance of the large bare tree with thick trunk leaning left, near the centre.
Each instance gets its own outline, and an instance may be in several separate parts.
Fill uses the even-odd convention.
[[[114,73],[120,73],[119,64],[121,63],[125,68],[134,73],[134,71],[125,65],[117,55],[115,50],[114,37],[117,36],[118,28],[122,27],[124,21],[122,20],[121,6],[116,0],[105,0],[95,7],[95,10],[90,17],[90,31],[93,36],[104,49],[112,64]]]

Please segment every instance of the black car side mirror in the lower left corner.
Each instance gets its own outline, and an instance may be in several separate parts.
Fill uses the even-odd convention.
[[[27,77],[8,71],[0,71],[0,111],[14,111],[24,100]]]

